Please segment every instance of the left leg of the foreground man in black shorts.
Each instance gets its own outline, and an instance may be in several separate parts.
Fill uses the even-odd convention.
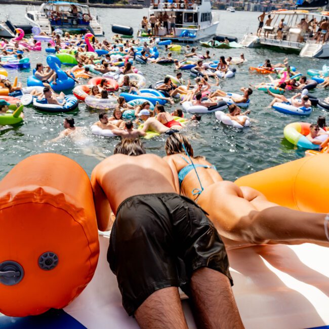
[[[142,329],[187,329],[178,288],[174,286],[154,292],[134,315]]]

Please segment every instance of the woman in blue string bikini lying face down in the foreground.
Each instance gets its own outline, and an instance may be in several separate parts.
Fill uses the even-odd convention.
[[[215,166],[204,157],[194,156],[188,139],[179,133],[167,139],[165,148],[164,160],[180,179],[177,193],[197,199],[227,250],[264,243],[329,246],[323,229],[326,214],[281,207],[254,188],[223,181]]]

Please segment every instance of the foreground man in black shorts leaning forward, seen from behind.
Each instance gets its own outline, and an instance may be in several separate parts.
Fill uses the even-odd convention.
[[[111,210],[116,216],[107,259],[141,328],[187,329],[179,286],[198,327],[243,328],[221,238],[202,209],[177,194],[166,161],[125,139],[91,180],[99,229],[109,229]]]

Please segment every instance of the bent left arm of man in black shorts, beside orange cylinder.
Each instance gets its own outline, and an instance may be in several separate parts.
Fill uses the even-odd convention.
[[[97,167],[92,172],[92,186],[94,192],[94,203],[97,217],[97,226],[100,231],[110,229],[111,208],[107,196],[97,181]]]

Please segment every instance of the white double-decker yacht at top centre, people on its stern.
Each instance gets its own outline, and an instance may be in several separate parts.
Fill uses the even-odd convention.
[[[209,38],[216,34],[219,24],[215,14],[211,10],[210,0],[193,0],[184,2],[184,0],[159,0],[151,4],[149,16],[159,17],[160,14],[173,16],[175,19],[175,35],[173,31],[167,31],[167,28],[160,27],[158,35],[161,40],[170,39],[173,42],[193,43],[203,38]],[[170,23],[168,23],[170,29]],[[148,35],[149,28],[139,29],[137,37]]]

